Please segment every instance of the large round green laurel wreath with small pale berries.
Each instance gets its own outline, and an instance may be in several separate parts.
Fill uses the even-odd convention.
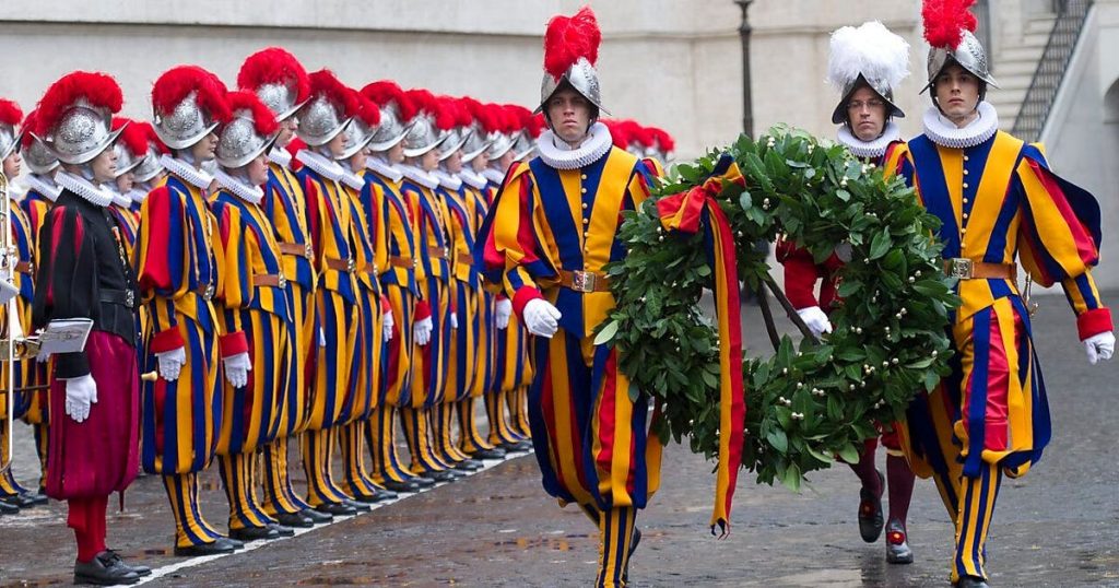
[[[628,254],[606,269],[617,307],[596,335],[618,347],[631,393],[660,407],[650,426],[661,441],[687,438],[693,451],[714,458],[720,364],[717,330],[700,307],[713,274],[703,236],[664,230],[653,203],[703,184],[723,153],[745,179],[744,187],[724,184],[717,202],[749,288],[772,280],[765,252],[754,248],[760,240],[783,234],[817,262],[841,244],[852,250],[834,333],[799,346],[784,336],[773,356],[743,361],[743,466],[759,483],[798,489],[807,473],[837,457],[857,461],[877,423],[903,418],[911,399],[949,372],[949,314],[960,301],[931,236],[939,220],[900,178],[886,179],[839,144],[775,127],[675,166],[651,198],[626,213],[619,236]],[[744,336],[762,329],[745,325]]]

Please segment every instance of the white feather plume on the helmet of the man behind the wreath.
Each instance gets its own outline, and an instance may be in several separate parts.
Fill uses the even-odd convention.
[[[882,22],[872,20],[831,34],[828,82],[839,92],[859,74],[877,90],[893,90],[909,73],[909,43]]]

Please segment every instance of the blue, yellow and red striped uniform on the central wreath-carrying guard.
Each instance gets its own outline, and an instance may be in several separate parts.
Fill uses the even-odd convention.
[[[505,284],[518,315],[542,297],[562,314],[555,336],[533,342],[529,423],[545,491],[561,505],[579,503],[599,525],[600,584],[619,584],[626,570],[634,510],[660,484],[660,444],[647,435],[648,395],[631,398],[617,351],[593,343],[613,296],[601,284],[579,288],[568,272],[603,280],[603,265],[626,255],[615,239],[621,213],[648,197],[656,174],[618,148],[576,169],[538,157],[516,164],[476,255],[488,279]]]

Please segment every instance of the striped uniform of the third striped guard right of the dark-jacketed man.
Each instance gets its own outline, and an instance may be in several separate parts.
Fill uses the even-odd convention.
[[[307,373],[311,349],[318,346],[314,324],[314,288],[318,282],[313,249],[307,220],[307,198],[295,175],[289,169],[290,156],[282,149],[269,155],[269,180],[264,184],[261,208],[275,231],[283,274],[291,301],[288,329],[289,373],[284,379],[284,416],[273,442],[264,446],[264,511],[270,515],[293,514],[310,508],[295,494],[288,474],[288,440],[307,429],[310,395]]]

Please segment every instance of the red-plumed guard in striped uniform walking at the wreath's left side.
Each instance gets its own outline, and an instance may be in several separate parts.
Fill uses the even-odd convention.
[[[611,144],[594,68],[594,13],[558,16],[545,34],[538,156],[509,170],[479,234],[487,280],[502,283],[533,342],[529,422],[545,491],[575,503],[600,532],[598,586],[624,586],[634,523],[660,484],[649,399],[630,395],[594,329],[613,307],[605,263],[624,254],[621,212],[649,195],[647,162]]]

